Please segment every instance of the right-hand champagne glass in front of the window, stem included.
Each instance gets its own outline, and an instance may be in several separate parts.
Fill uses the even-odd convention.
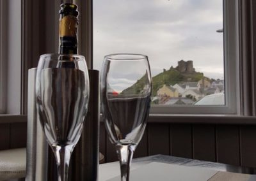
[[[109,140],[118,154],[121,180],[129,180],[132,156],[145,131],[150,109],[152,78],[148,57],[106,55],[100,80],[102,113]]]

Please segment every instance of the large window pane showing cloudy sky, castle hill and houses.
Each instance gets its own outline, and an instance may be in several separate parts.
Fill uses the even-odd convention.
[[[93,68],[148,55],[154,105],[225,105],[223,1],[93,1]]]

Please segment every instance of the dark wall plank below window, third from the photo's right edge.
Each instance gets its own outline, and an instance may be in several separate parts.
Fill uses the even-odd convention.
[[[193,126],[193,159],[216,161],[215,126]]]

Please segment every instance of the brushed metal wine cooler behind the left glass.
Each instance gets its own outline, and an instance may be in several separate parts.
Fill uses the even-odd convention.
[[[81,138],[72,153],[68,180],[98,180],[99,170],[99,71],[88,70],[90,99]],[[51,148],[45,140],[35,101],[36,68],[28,71],[27,181],[58,180]]]

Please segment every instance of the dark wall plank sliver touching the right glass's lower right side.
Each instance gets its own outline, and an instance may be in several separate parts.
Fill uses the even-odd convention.
[[[140,140],[138,147],[134,152],[134,158],[148,156],[148,126],[145,129],[145,133]]]

